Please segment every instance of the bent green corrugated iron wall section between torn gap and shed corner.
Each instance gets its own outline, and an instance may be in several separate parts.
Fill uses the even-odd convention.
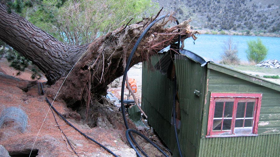
[[[206,68],[183,55],[175,55],[181,107],[180,143],[184,156],[198,156]]]

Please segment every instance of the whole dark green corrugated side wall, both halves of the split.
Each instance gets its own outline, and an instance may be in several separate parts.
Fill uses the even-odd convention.
[[[152,66],[162,57],[152,57]],[[153,71],[143,64],[142,69],[142,108],[148,115],[150,125],[161,139],[179,156],[176,146],[175,131],[171,125],[173,105],[173,81]],[[179,141],[184,156],[197,156],[201,135],[202,106],[204,105],[204,89],[206,69],[186,56],[175,55],[179,103],[181,107],[181,128]],[[194,94],[194,90],[200,94]],[[203,105],[202,105],[203,104]]]

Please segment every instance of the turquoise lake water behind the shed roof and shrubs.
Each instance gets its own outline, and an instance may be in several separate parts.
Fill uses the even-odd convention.
[[[241,61],[248,61],[246,50],[248,49],[247,42],[260,38],[262,43],[268,48],[268,55],[265,60],[277,59],[280,61],[280,38],[279,37],[258,37],[258,36],[241,36],[241,35],[212,35],[201,34],[195,41],[188,38],[184,42],[184,48],[192,51],[206,60],[220,61],[220,56],[224,52],[225,42],[232,38],[233,44],[237,46],[238,56]],[[195,43],[195,44],[194,44]]]

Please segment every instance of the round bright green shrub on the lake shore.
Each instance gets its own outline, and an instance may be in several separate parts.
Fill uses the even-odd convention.
[[[266,58],[268,49],[264,46],[260,38],[258,38],[257,41],[251,40],[247,42],[247,44],[248,49],[246,53],[249,61],[259,63]]]

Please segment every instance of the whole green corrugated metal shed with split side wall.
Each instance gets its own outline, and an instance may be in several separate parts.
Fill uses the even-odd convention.
[[[225,66],[205,62],[189,51],[175,55],[180,102],[179,141],[184,156],[280,156],[280,86]],[[172,123],[173,81],[143,64],[142,107],[150,125],[178,156]],[[149,68],[150,67],[150,68]],[[258,136],[206,138],[211,92],[262,93]]]

